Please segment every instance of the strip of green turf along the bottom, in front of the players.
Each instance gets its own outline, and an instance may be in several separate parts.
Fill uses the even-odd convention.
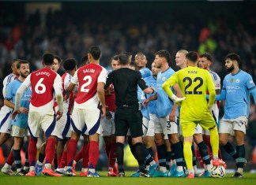
[[[51,176],[6,176],[0,173],[0,185],[254,185],[256,183],[256,174],[244,173],[242,179],[232,179],[232,174],[227,174],[223,179],[213,178],[134,178],[134,177],[107,177],[107,172],[99,172],[101,178],[88,177],[51,177]],[[130,176],[131,172],[126,172],[126,176]]]

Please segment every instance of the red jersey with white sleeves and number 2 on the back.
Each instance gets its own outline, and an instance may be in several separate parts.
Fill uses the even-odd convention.
[[[77,98],[74,108],[96,109],[100,99],[97,95],[97,85],[100,82],[106,83],[107,70],[97,64],[84,65],[78,68],[71,81],[78,84]]]

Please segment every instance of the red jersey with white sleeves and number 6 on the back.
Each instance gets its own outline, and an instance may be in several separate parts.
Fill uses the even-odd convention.
[[[32,72],[25,80],[24,86],[32,87],[29,109],[40,113],[54,113],[54,91],[62,91],[62,79],[50,68],[41,68]]]

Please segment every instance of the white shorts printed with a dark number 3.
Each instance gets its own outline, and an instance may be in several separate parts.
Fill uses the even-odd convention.
[[[175,119],[177,120],[177,117]],[[163,133],[164,135],[178,134],[178,126],[176,122],[171,122],[169,117],[161,117],[155,123],[155,133]]]

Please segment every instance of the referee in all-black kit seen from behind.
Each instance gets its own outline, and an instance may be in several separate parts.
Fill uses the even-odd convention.
[[[115,88],[115,135],[119,177],[125,176],[123,144],[129,128],[133,138],[135,157],[140,169],[140,177],[149,177],[149,173],[145,170],[144,150],[142,148],[142,118],[137,100],[137,86],[141,87],[141,90],[146,94],[152,94],[155,90],[145,84],[141,72],[129,68],[130,62],[127,54],[119,54],[118,61],[121,68],[109,73],[105,87],[113,83]]]

